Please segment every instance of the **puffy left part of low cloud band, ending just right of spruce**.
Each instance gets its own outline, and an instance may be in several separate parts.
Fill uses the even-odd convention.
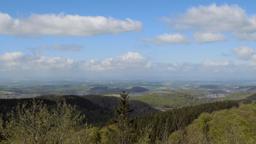
[[[127,52],[127,54],[116,58],[90,61],[75,61],[65,57],[29,55],[24,54],[24,52],[6,52],[0,55],[0,67],[1,71],[103,71],[150,68],[151,63],[138,52]]]

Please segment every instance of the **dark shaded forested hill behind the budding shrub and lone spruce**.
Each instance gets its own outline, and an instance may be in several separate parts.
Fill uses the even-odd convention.
[[[97,124],[107,122],[108,119],[113,116],[113,107],[118,106],[118,97],[104,97],[100,95],[84,95],[79,97],[76,95],[44,95],[36,97],[36,100],[42,100],[44,104],[47,104],[48,108],[54,108],[57,100],[65,99],[67,104],[72,106],[76,105],[76,108],[86,115],[86,120],[89,124]],[[28,102],[31,104],[30,99],[0,99],[0,113],[5,115],[12,111],[12,108],[22,102]],[[157,113],[159,110],[152,108],[144,102],[138,100],[131,100],[131,107],[134,108],[132,112],[133,116],[143,115],[148,113]]]

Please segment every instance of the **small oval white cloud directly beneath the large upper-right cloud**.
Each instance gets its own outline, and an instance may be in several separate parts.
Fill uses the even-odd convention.
[[[223,40],[228,40],[227,36],[220,33],[194,33],[193,38],[195,38],[198,43],[219,42]]]

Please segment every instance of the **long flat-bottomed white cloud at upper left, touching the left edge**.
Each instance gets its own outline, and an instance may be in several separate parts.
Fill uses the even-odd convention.
[[[0,12],[0,33],[5,35],[37,36],[92,36],[118,34],[127,31],[141,31],[138,20],[115,19],[102,16],[64,15],[60,13],[30,15],[25,19],[14,19],[8,13]]]

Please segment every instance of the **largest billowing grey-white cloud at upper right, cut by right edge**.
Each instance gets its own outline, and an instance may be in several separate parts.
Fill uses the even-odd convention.
[[[195,39],[199,39],[199,42],[226,40],[225,35],[219,34],[221,32],[232,33],[239,40],[256,40],[256,16],[247,15],[243,8],[236,4],[217,6],[213,3],[209,6],[193,6],[185,13],[173,17],[169,27],[179,30],[192,29],[195,33],[208,33],[205,39],[204,36],[198,38],[198,34],[195,34]]]

